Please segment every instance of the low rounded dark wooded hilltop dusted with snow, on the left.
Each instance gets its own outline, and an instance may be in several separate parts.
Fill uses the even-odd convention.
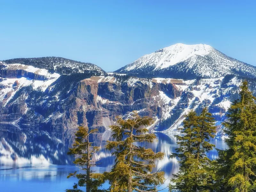
[[[40,57],[40,58],[17,58],[3,61],[6,64],[20,63],[24,65],[34,66],[36,68],[44,68],[50,72],[56,72],[60,75],[92,72],[98,75],[104,75],[106,72],[100,67],[92,63],[84,63],[62,57]]]

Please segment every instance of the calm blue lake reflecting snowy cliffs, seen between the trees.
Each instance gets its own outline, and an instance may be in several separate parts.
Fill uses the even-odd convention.
[[[79,171],[72,164],[73,157],[67,155],[68,147],[71,147],[74,141],[74,133],[74,130],[48,133],[0,124],[1,191],[63,192],[67,188],[72,188],[76,179],[67,179],[67,175]],[[165,153],[163,160],[156,161],[155,168],[165,172],[167,180],[162,186],[165,188],[172,174],[179,169],[177,159],[169,158],[178,146],[172,135],[156,133],[156,136],[158,141],[149,143],[147,147],[155,152]],[[101,158],[101,164],[93,168],[98,172],[110,171],[115,158],[104,146],[107,140],[111,140],[111,132],[106,130],[104,133],[94,134],[91,139],[95,145],[101,146],[101,150],[93,156],[94,160]],[[227,148],[222,139],[213,139],[211,143],[218,149]],[[218,157],[216,149],[210,151],[208,157]],[[107,188],[107,184],[102,188]]]

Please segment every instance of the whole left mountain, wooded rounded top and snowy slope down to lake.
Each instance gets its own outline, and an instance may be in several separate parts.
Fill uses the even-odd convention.
[[[0,62],[0,122],[12,124],[19,124],[22,116],[33,119],[33,124],[40,122],[35,114],[47,116],[55,111],[60,100],[66,99],[80,80],[105,74],[93,64],[63,58],[14,59],[12,62]],[[72,72],[66,75],[69,71]]]

